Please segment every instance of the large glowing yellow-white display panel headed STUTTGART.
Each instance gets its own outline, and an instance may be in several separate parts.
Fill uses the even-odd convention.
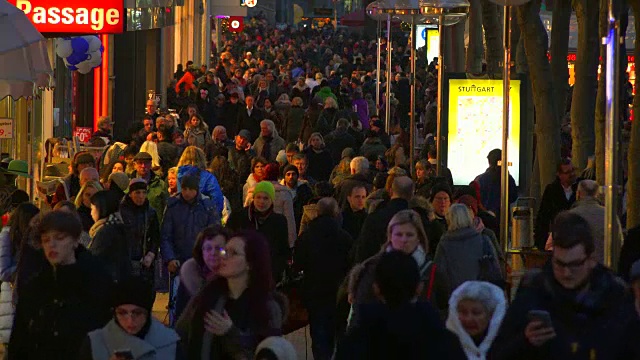
[[[487,169],[487,154],[502,148],[502,80],[448,79],[447,166],[456,185]],[[520,180],[520,80],[511,80],[509,173]]]

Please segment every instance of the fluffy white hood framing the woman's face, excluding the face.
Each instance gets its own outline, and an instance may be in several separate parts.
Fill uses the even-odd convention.
[[[491,320],[489,321],[489,329],[484,340],[480,345],[476,345],[471,336],[466,332],[458,318],[458,302],[462,299],[474,299],[474,294],[485,288],[491,294],[491,300],[494,301],[495,310]],[[504,291],[499,287],[483,281],[466,281],[451,294],[449,298],[449,317],[447,318],[447,329],[455,333],[460,340],[462,349],[470,360],[486,360],[487,352],[491,348],[493,340],[498,335],[500,324],[507,311],[507,303]]]

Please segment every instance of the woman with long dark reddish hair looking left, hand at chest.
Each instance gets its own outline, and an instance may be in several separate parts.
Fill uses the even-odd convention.
[[[241,232],[223,255],[219,277],[178,320],[188,359],[251,359],[260,341],[281,334],[283,310],[264,236]]]

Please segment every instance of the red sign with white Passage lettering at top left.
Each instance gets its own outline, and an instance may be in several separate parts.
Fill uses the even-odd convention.
[[[41,33],[119,34],[124,31],[122,0],[9,0]]]

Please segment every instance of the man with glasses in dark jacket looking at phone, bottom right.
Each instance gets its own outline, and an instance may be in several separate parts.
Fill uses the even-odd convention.
[[[625,284],[599,264],[589,223],[560,213],[552,258],[520,283],[490,359],[637,359],[638,316]]]

